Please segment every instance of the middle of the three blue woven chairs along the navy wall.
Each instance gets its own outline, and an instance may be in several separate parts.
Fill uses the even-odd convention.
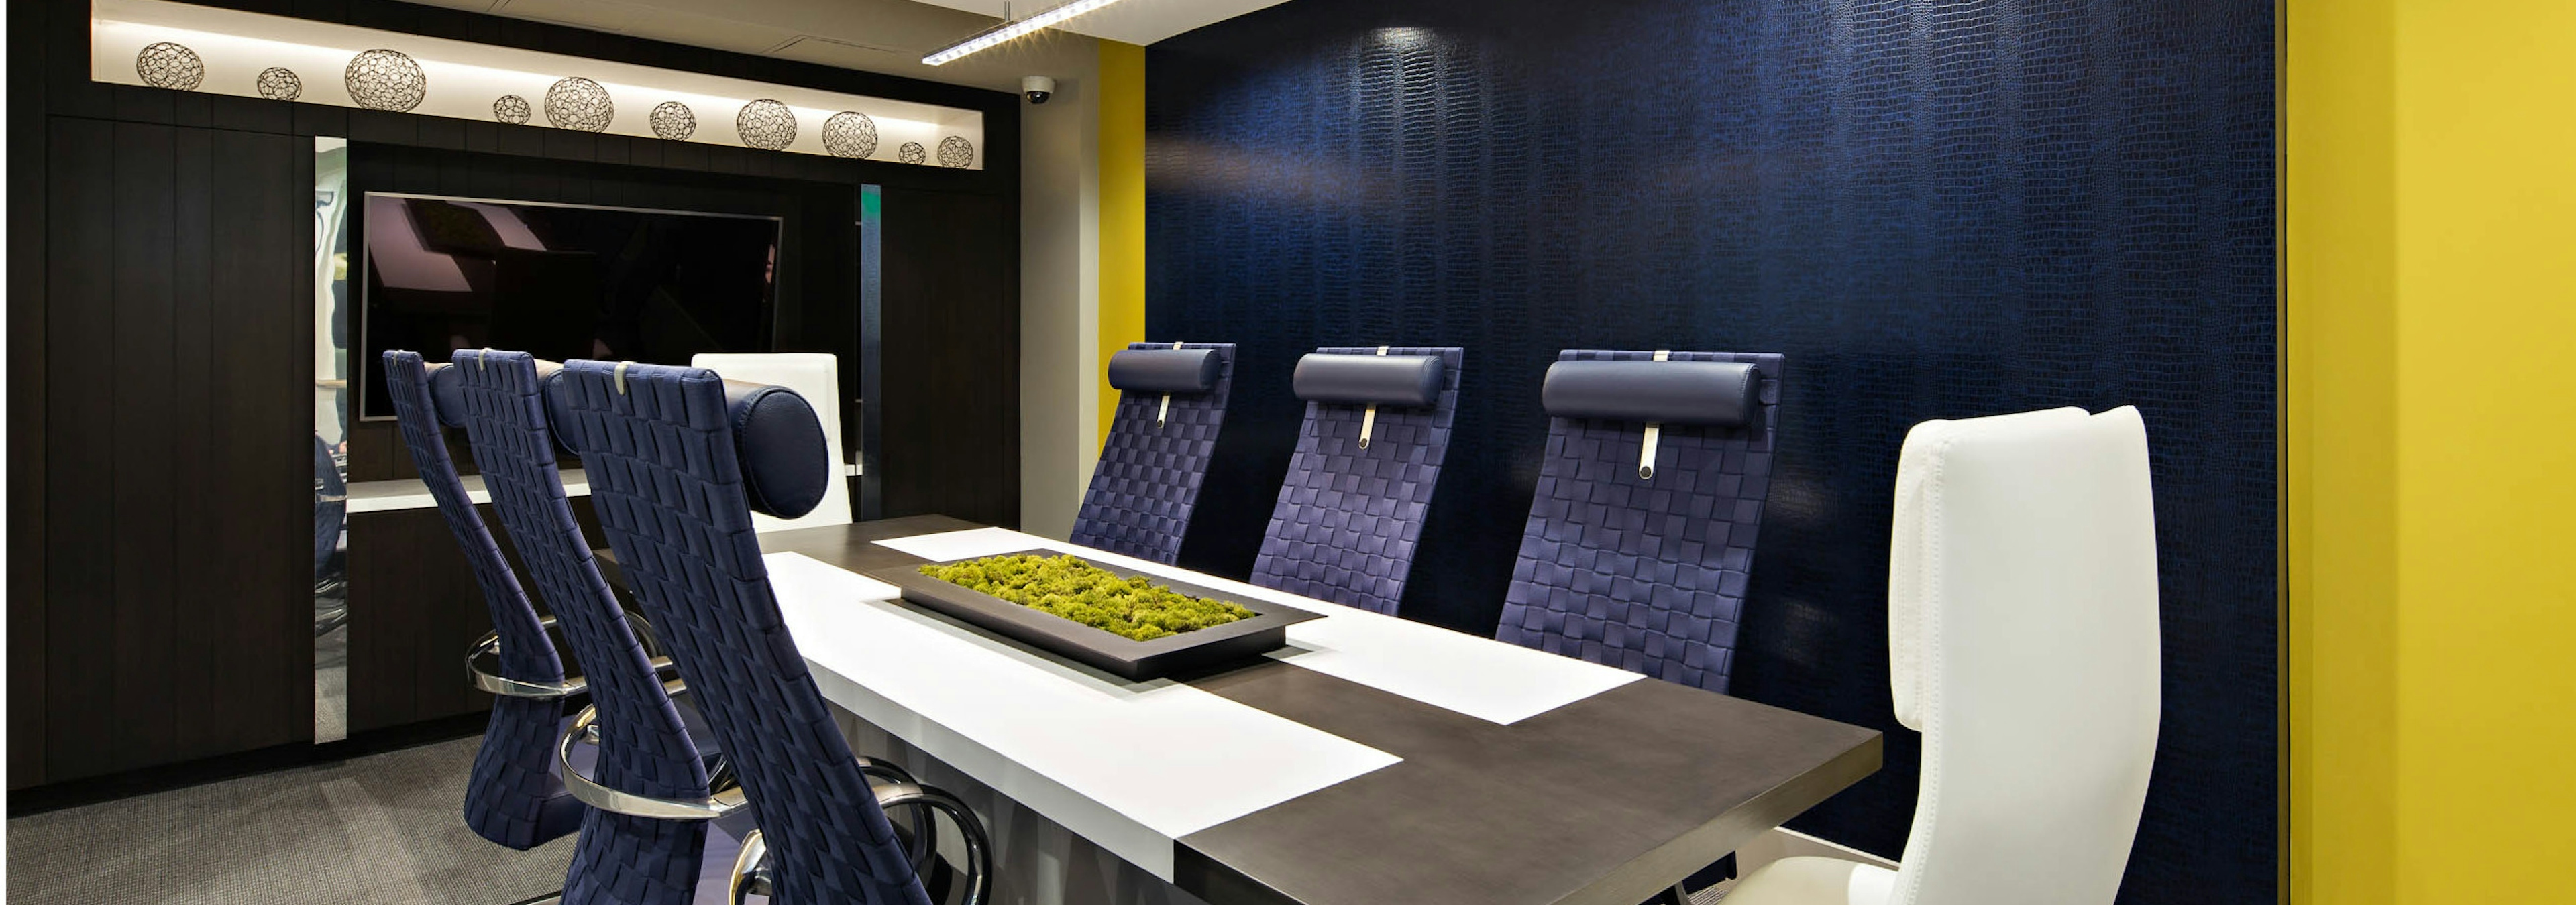
[[[1461,347],[1324,347],[1298,360],[1306,424],[1252,584],[1396,612],[1448,455],[1463,360]]]

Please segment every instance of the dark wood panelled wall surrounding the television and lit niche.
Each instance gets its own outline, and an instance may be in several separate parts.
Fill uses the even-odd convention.
[[[884,386],[860,393],[889,429],[868,483],[884,488],[884,514],[1018,522],[1012,95],[407,3],[211,5],[979,108],[987,170],[100,85],[88,77],[88,3],[10,3],[8,486],[23,501],[8,514],[10,789],[312,740],[312,136],[884,185],[884,321],[871,339],[889,363]],[[526,185],[479,195],[526,195],[513,188]],[[353,550],[366,571],[353,581],[399,578],[374,576],[371,555]],[[417,612],[438,638],[407,661],[376,650],[379,666],[358,666],[353,650],[350,666],[353,679],[412,668],[417,686],[446,684],[456,699],[368,704],[368,720],[474,707],[459,704],[471,692],[456,656],[484,620],[471,586],[456,591],[474,607]]]

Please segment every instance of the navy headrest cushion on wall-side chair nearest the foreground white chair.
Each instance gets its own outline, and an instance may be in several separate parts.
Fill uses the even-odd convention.
[[[1556,363],[1538,401],[1561,419],[1741,427],[1759,383],[1747,363]]]

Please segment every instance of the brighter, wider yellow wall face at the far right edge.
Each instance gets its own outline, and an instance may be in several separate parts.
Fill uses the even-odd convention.
[[[2576,897],[2576,3],[2396,21],[2398,902]]]

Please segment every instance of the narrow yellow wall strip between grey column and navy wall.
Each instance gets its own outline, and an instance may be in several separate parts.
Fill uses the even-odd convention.
[[[1100,442],[1118,391],[1110,355],[1144,342],[1144,46],[1100,41]]]

